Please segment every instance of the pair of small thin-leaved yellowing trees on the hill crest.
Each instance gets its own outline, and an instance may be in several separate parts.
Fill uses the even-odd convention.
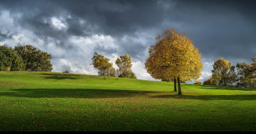
[[[112,67],[113,64],[107,57],[97,52],[92,57],[91,65],[98,70],[99,75],[104,76],[104,79],[105,76],[137,79],[134,72],[132,72],[132,57],[130,55],[127,54],[117,57],[115,64],[119,67],[118,69]]]

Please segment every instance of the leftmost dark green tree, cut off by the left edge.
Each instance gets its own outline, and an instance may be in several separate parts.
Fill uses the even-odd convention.
[[[21,57],[12,48],[0,46],[0,70],[1,71],[24,71],[26,65]]]

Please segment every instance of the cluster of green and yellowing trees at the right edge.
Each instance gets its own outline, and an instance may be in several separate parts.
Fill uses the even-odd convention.
[[[232,65],[224,58],[216,60],[213,64],[213,74],[203,82],[204,85],[236,86],[243,88],[256,88],[256,57],[252,58],[252,64],[238,62]]]

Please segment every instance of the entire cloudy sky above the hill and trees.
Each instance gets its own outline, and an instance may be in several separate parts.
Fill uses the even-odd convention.
[[[95,51],[110,59],[131,55],[138,79],[154,79],[144,62],[166,28],[185,33],[201,52],[198,81],[213,62],[252,63],[256,56],[256,1],[249,0],[0,0],[0,45],[32,45],[53,58],[52,72],[97,74]]]

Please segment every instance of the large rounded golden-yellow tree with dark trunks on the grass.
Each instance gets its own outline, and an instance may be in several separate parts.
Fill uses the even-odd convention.
[[[144,62],[146,71],[155,79],[178,80],[178,94],[181,94],[181,81],[198,79],[203,63],[201,54],[185,34],[176,29],[166,29],[157,35],[155,45],[149,48],[149,57]]]

